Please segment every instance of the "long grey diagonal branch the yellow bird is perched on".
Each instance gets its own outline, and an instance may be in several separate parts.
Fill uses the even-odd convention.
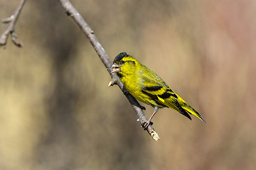
[[[87,36],[87,38],[90,40],[92,46],[95,48],[95,51],[97,52],[97,55],[100,57],[100,60],[107,68],[107,71],[109,72],[112,81],[110,81],[109,86],[112,86],[114,84],[117,84],[119,88],[123,91],[124,95],[127,97],[129,103],[131,103],[132,107],[134,108],[134,111],[137,113],[138,120],[140,123],[143,123],[147,120],[146,115],[142,111],[143,106],[140,106],[138,101],[129,93],[127,93],[127,90],[124,88],[124,84],[120,81],[120,79],[117,77],[116,74],[111,73],[112,71],[112,62],[110,61],[110,58],[107,56],[107,53],[105,52],[102,45],[100,45],[100,42],[97,40],[95,33],[90,28],[90,26],[85,22],[85,20],[80,16],[80,13],[74,8],[74,6],[70,3],[68,0],[60,0],[60,4],[62,4],[63,8],[65,8],[66,13],[68,16],[73,18],[75,23],[78,24],[80,29],[83,33]],[[159,140],[159,135],[156,133],[152,125],[149,125],[149,127],[146,129],[147,132],[153,137],[154,140]]]

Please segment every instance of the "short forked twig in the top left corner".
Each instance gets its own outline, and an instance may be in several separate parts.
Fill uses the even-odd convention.
[[[16,8],[16,11],[13,15],[11,15],[9,18],[4,18],[1,22],[2,23],[10,23],[8,28],[2,33],[0,37],[0,47],[5,46],[7,42],[8,35],[11,35],[11,40],[14,42],[15,45],[18,47],[22,47],[22,43],[17,39],[18,34],[14,30],[15,23],[18,19],[19,14],[21,13],[21,9],[23,5],[25,4],[26,0],[21,0],[20,4],[18,4],[18,7]]]

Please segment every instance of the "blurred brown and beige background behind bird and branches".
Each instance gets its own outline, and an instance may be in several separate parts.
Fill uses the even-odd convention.
[[[60,3],[26,1],[24,46],[0,49],[0,169],[255,169],[256,1],[71,3],[110,60],[129,52],[207,123],[164,108],[152,140]]]

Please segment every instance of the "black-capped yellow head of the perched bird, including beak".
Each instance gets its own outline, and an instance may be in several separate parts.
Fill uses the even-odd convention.
[[[127,54],[127,52],[120,52],[113,61],[112,73],[117,73],[118,77],[127,74],[133,74],[136,71],[139,62],[134,57]]]

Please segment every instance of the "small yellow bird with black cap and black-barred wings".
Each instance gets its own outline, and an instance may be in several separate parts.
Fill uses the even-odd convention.
[[[195,115],[206,123],[201,115],[178,96],[171,88],[148,67],[139,63],[127,52],[120,52],[113,61],[112,72],[115,72],[124,84],[125,89],[129,91],[134,98],[142,101],[154,108],[154,113],[148,121],[142,123],[144,129],[152,125],[151,119],[157,113],[159,108],[172,108],[175,111],[185,115],[191,120]]]

